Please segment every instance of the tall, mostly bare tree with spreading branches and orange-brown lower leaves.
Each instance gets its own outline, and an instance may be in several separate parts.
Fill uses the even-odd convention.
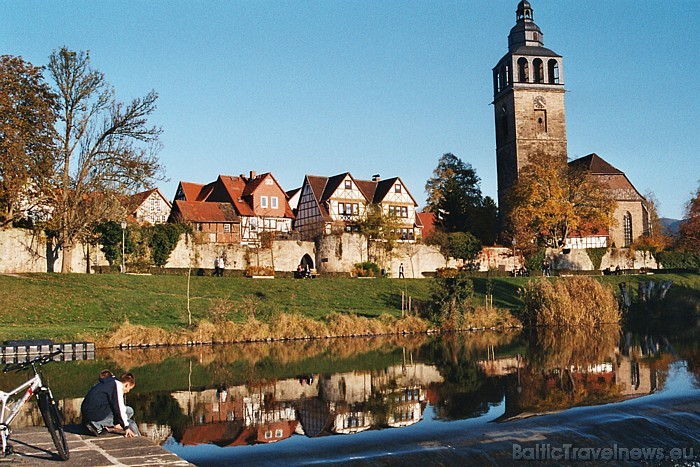
[[[49,227],[54,255],[63,250],[61,270],[70,272],[76,243],[91,239],[100,222],[124,215],[118,197],[160,176],[161,130],[148,125],[158,96],[151,91],[128,104],[117,101],[88,52],[55,50],[48,70],[58,95],[59,151]]]

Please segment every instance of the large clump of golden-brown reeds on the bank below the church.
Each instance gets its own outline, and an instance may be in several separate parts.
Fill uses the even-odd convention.
[[[599,326],[618,323],[612,289],[586,276],[530,280],[520,289],[518,318],[525,326]]]

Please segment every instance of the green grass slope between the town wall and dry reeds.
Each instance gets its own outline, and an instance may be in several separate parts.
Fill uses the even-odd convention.
[[[212,320],[212,310],[227,309],[227,319],[265,321],[281,314],[311,319],[353,314],[366,318],[401,316],[401,293],[421,306],[430,297],[431,279],[255,280],[191,277],[189,308],[193,323]],[[671,295],[691,306],[700,303],[700,276],[605,276],[617,291],[626,281],[636,290],[642,280],[672,279]],[[529,278],[493,278],[493,305],[521,306],[518,288]],[[474,278],[474,304],[483,304],[488,279]],[[694,305],[693,305],[694,304]],[[119,325],[178,331],[188,326],[187,277],[84,274],[0,276],[0,340],[52,338],[98,340]]]

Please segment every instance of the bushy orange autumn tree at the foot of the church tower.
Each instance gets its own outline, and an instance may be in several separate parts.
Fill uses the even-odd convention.
[[[510,229],[522,248],[562,248],[573,231],[613,223],[615,201],[605,185],[541,152],[530,156],[508,196]]]

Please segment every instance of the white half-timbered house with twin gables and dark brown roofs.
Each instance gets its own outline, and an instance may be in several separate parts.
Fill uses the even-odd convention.
[[[303,240],[336,232],[356,232],[368,206],[380,206],[397,223],[398,236],[414,240],[420,236],[415,199],[399,177],[358,180],[350,173],[333,177],[307,175],[298,197],[294,229]]]

